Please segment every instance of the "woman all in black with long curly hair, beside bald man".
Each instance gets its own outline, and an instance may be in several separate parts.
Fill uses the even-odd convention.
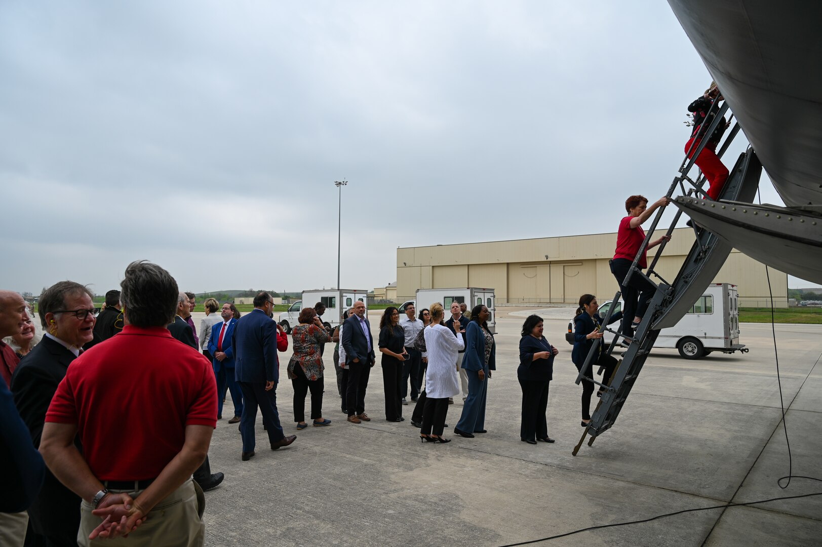
[[[380,319],[380,353],[382,354],[382,386],[386,390],[386,420],[401,422],[403,418],[402,384],[405,332],[399,326],[399,310],[386,308]]]

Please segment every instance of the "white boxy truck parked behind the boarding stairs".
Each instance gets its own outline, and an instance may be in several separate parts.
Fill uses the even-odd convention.
[[[605,317],[612,300],[599,307],[599,314]],[[614,313],[621,311],[620,299]],[[632,319],[632,318],[629,318]],[[617,330],[617,325],[612,325]],[[610,343],[613,335],[605,332],[603,339]],[[737,308],[737,285],[713,283],[691,306],[690,311],[674,327],[659,331],[655,348],[677,348],[685,359],[700,359],[712,351],[746,353],[748,349],[739,343],[739,308]]]

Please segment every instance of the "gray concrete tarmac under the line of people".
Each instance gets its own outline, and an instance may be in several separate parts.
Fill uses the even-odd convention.
[[[340,412],[326,349],[323,416],[333,423],[298,431],[293,388],[280,354],[277,401],[290,447],[270,451],[257,417],[256,457],[241,461],[229,395],[210,447],[226,478],[205,494],[205,545],[508,545],[663,513],[822,491],[788,475],[770,325],[744,323],[750,353],[682,359],[654,350],[614,427],[580,440],[580,396],[567,312],[547,313],[545,336],[560,350],[548,401],[556,443],[520,442],[519,365],[523,309],[499,308],[497,370],[488,387],[488,433],[453,433],[461,397],[449,406],[447,444],[420,443],[410,424],[385,420],[380,358],[366,412]],[[570,310],[572,313],[573,310]],[[516,315],[514,315],[516,313]],[[526,313],[527,315],[527,313]],[[196,324],[199,317],[195,314]],[[199,317],[198,317],[199,316]],[[380,312],[370,314],[372,334]],[[557,316],[559,316],[557,318]],[[822,478],[822,326],[777,325],[776,336],[793,475]],[[290,337],[289,337],[290,345]],[[592,402],[596,405],[596,398]],[[310,402],[306,401],[307,415]],[[309,420],[309,424],[311,421]],[[784,485],[784,481],[783,481]],[[685,512],[652,522],[584,531],[539,545],[820,545],[822,496]]]

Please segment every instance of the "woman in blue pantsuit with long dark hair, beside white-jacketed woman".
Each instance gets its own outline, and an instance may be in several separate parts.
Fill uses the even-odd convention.
[[[482,304],[471,310],[471,322],[465,329],[465,356],[462,368],[468,373],[468,398],[454,433],[471,438],[485,433],[485,400],[488,378],[496,370],[494,336],[488,328],[488,308]],[[455,325],[457,322],[454,323]]]

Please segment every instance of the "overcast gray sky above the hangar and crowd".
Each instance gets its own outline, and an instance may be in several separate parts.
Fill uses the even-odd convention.
[[[343,179],[351,288],[397,247],[616,231],[710,82],[665,2],[604,0],[7,0],[0,74],[0,286],[35,294],[141,258],[182,290],[335,286]]]

